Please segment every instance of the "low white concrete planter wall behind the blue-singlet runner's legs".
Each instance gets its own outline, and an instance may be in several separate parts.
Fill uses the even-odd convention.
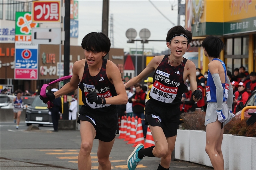
[[[212,166],[205,152],[206,134],[199,130],[178,129],[175,159]],[[256,169],[256,138],[224,134],[221,145],[224,169]]]

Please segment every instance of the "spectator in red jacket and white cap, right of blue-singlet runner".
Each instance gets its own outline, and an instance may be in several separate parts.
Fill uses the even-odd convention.
[[[237,94],[238,93],[238,94]],[[246,91],[246,86],[243,82],[240,82],[238,84],[238,91],[235,92],[235,96],[238,96],[237,98],[234,98],[233,102],[235,104],[234,112],[238,112],[242,110],[242,108],[239,106],[239,103],[242,102],[243,105],[249,98],[249,94]]]

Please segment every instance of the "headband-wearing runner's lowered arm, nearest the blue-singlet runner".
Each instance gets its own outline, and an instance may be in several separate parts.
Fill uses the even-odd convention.
[[[189,82],[190,82],[190,87],[191,87],[191,91],[192,93],[197,90],[197,83],[196,83],[196,65],[195,63],[193,63],[192,61],[188,60],[186,62],[185,68],[189,68]],[[195,102],[199,101],[200,99],[196,99],[195,96],[193,96],[193,100]]]

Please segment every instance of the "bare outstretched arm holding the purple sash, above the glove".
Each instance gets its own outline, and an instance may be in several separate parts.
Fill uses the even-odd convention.
[[[68,94],[70,92],[73,92],[74,90],[77,89],[78,87],[78,84],[80,82],[80,79],[79,79],[79,76],[78,76],[78,73],[79,73],[79,70],[83,69],[84,70],[84,67],[81,66],[83,65],[81,61],[84,61],[84,60],[79,60],[79,61],[76,61],[73,65],[73,75],[70,79],[70,82],[68,82],[67,84],[65,84],[60,90],[58,90],[57,92],[54,92],[53,94],[55,95],[55,99],[64,95],[64,94]]]

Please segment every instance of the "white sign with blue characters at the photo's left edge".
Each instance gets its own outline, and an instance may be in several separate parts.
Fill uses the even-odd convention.
[[[14,43],[15,28],[13,26],[0,25],[0,43]]]

